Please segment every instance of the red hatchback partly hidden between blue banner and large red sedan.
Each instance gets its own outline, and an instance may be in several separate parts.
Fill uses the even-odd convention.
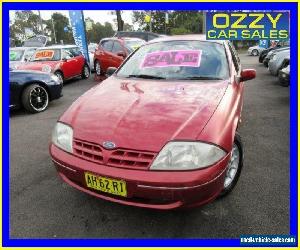
[[[94,53],[94,70],[103,75],[109,67],[119,67],[124,59],[145,43],[139,38],[105,38],[102,39]]]

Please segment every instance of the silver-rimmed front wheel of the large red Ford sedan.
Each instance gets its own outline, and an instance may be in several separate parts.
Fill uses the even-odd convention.
[[[229,194],[235,187],[243,167],[243,144],[240,135],[237,133],[234,138],[231,158],[227,165],[224,186],[220,196]]]

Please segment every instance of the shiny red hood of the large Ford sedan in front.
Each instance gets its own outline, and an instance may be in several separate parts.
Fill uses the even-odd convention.
[[[112,76],[79,97],[60,121],[74,138],[158,152],[171,140],[195,140],[228,81],[124,80]]]

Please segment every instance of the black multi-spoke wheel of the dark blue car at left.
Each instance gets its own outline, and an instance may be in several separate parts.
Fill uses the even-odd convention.
[[[49,95],[47,90],[38,84],[31,84],[22,93],[23,107],[30,113],[39,113],[47,109]]]

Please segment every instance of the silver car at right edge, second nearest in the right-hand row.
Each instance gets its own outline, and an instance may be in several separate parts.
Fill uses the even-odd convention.
[[[279,70],[286,67],[289,61],[290,50],[276,52],[270,57],[268,69],[272,75],[277,76]]]

